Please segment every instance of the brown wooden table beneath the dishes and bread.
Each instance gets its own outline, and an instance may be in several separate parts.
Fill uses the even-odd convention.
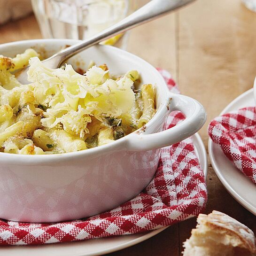
[[[140,0],[145,2],[146,0]],[[41,38],[34,16],[0,27],[0,43]],[[208,120],[199,132],[207,148],[207,126],[224,107],[253,86],[256,75],[256,13],[240,0],[197,0],[160,20],[134,29],[128,51],[171,71],[183,94],[200,101]],[[225,190],[209,163],[206,213],[223,211],[256,233],[256,217]],[[173,225],[112,256],[181,256],[195,219]]]

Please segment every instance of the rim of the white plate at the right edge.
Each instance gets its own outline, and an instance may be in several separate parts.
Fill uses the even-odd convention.
[[[248,97],[248,95],[250,95],[251,93],[253,94],[254,90],[253,88],[249,89],[248,91],[240,94],[238,97],[236,97],[233,101],[231,101],[219,114],[219,116],[227,113],[227,110],[233,106],[234,104],[236,104],[237,102],[239,102],[241,99]],[[212,139],[209,137],[208,140],[208,154],[209,154],[209,159],[210,159],[210,163],[212,165],[212,168],[214,170],[214,172],[216,173],[218,179],[220,180],[220,182],[222,183],[222,185],[225,187],[225,189],[227,190],[227,192],[229,194],[232,195],[232,197],[240,203],[240,205],[242,205],[245,209],[247,209],[248,211],[250,211],[252,214],[256,215],[256,207],[254,207],[253,205],[251,205],[250,203],[248,203],[246,201],[246,199],[242,196],[240,196],[240,194],[238,194],[233,187],[230,185],[230,183],[222,176],[222,171],[220,170],[220,168],[217,166],[215,159],[214,159],[214,154],[213,154],[213,145],[214,142],[212,141]],[[221,149],[220,149],[221,150]],[[223,153],[222,153],[223,154]]]

